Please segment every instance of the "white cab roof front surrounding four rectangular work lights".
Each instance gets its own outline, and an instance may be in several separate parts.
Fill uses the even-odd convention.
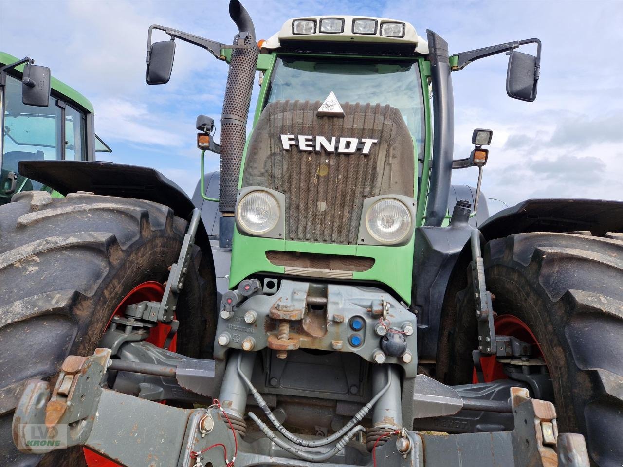
[[[343,27],[341,32],[321,32],[320,24],[323,19],[341,19]],[[295,21],[313,21],[315,27],[310,34],[300,34],[295,32]],[[355,21],[374,21],[376,26],[374,32],[356,33],[354,32]],[[401,37],[388,37],[381,35],[381,26],[386,23],[397,23],[404,25]],[[267,51],[277,50],[282,47],[282,42],[287,41],[306,41],[306,42],[349,42],[362,44],[383,44],[383,45],[412,45],[413,52],[418,54],[428,53],[428,43],[424,38],[417,35],[416,29],[405,21],[396,19],[379,18],[371,16],[349,16],[349,15],[323,15],[323,16],[302,16],[290,18],[283,23],[281,30],[273,34],[264,44],[262,49]]]

